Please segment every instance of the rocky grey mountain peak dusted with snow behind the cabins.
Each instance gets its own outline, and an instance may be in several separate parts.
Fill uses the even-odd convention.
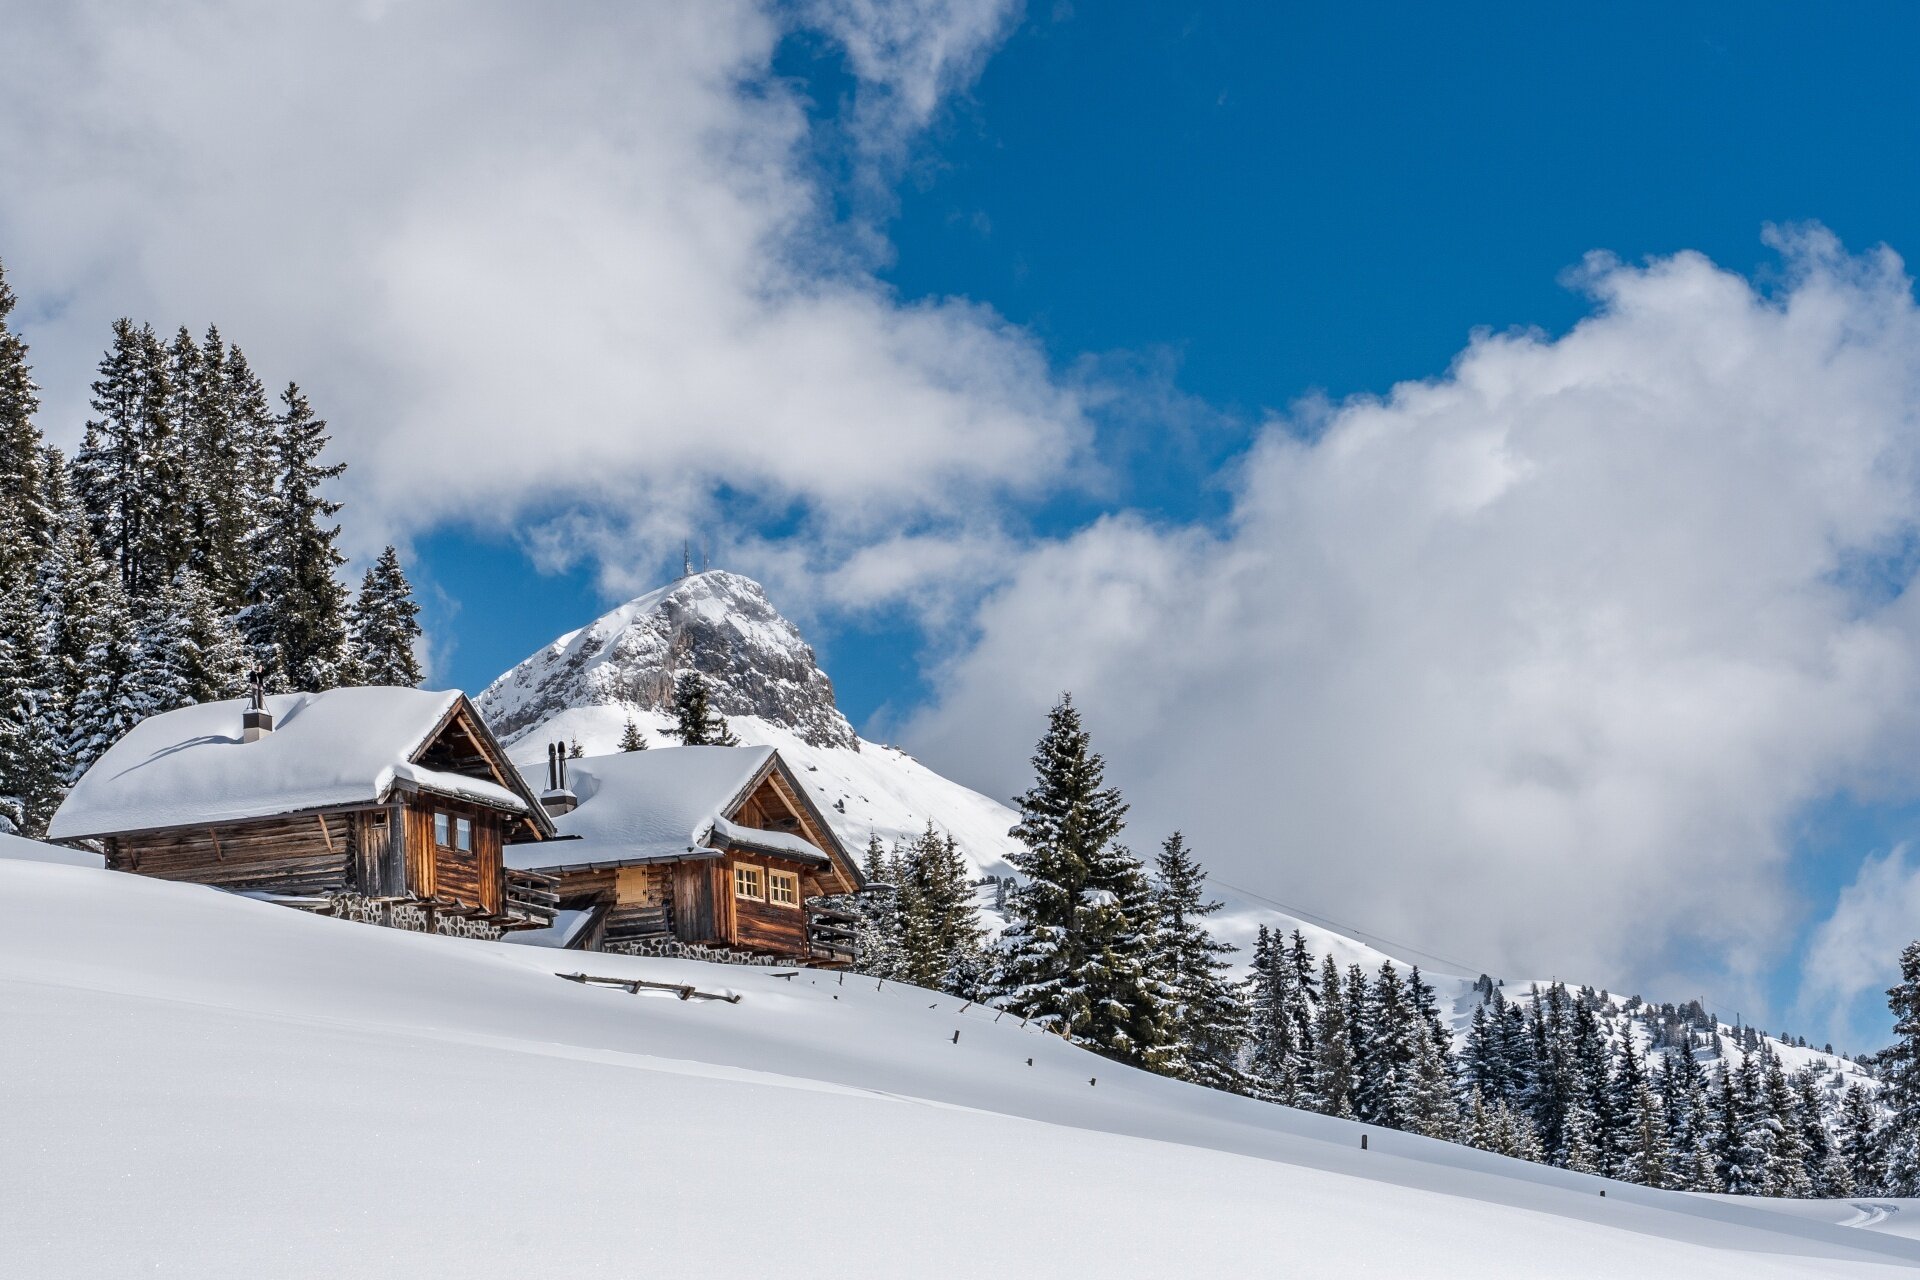
[[[799,628],[760,583],[726,570],[689,574],[559,637],[488,685],[478,706],[507,741],[580,706],[670,716],[674,681],[687,670],[707,677],[722,716],[758,716],[814,747],[860,748]]]

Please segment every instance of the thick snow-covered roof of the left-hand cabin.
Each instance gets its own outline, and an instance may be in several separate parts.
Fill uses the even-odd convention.
[[[459,702],[457,689],[284,693],[267,699],[273,733],[255,743],[240,741],[246,699],[148,716],[86,770],[48,837],[380,804],[396,787],[526,814],[526,800],[499,783],[413,764]]]

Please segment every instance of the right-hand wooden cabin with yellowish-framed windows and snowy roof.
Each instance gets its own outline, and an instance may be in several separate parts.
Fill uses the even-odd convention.
[[[507,850],[507,865],[561,881],[559,919],[540,940],[852,958],[845,919],[814,900],[854,892],[860,869],[772,747],[662,747],[564,770],[528,779],[578,802],[555,814],[559,839]]]

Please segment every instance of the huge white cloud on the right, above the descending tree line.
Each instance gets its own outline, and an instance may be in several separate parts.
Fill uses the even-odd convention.
[[[1137,839],[1229,881],[1517,977],[1751,975],[1788,821],[1908,791],[1920,693],[1912,292],[1776,242],[1772,294],[1594,257],[1569,334],[1271,422],[1221,528],[1035,547],[904,739],[1012,794],[1071,689]]]

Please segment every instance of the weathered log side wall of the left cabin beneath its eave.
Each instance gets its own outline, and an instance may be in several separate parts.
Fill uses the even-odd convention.
[[[221,889],[319,894],[349,887],[353,821],[348,814],[269,818],[108,837],[108,865]]]

